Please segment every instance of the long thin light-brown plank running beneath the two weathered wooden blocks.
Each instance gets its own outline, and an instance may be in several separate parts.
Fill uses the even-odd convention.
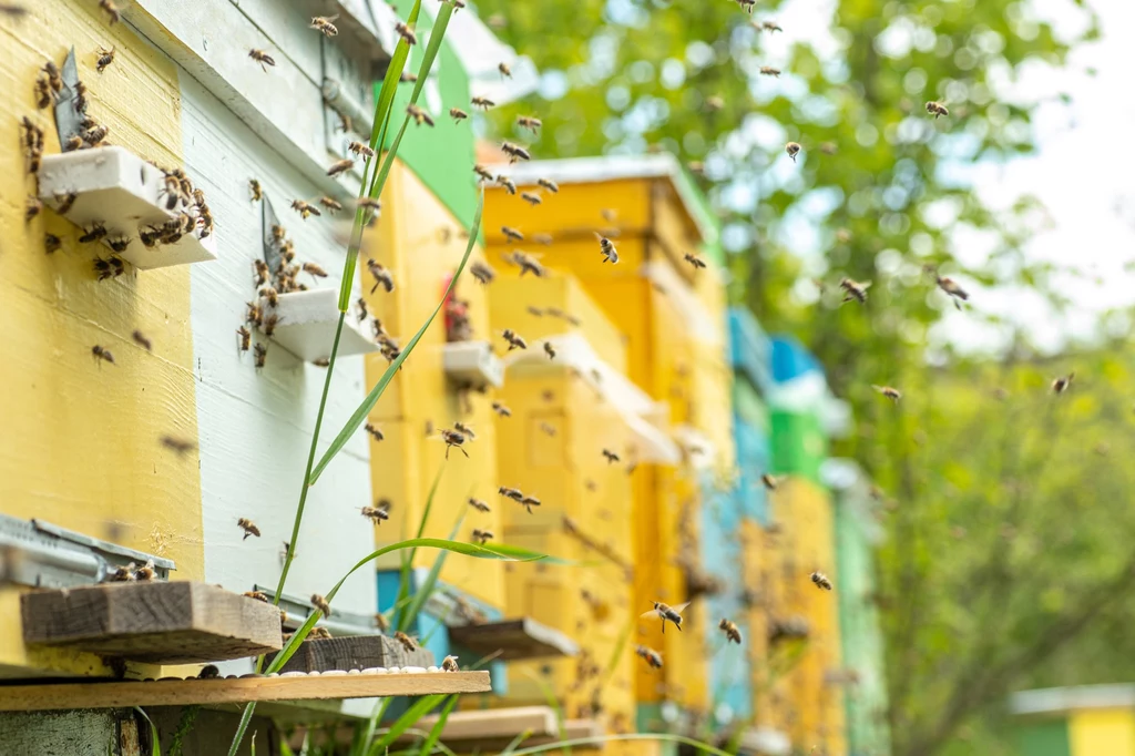
[[[0,712],[36,712],[119,706],[243,704],[252,700],[305,700],[487,692],[488,672],[417,672],[340,677],[151,680],[9,686]]]

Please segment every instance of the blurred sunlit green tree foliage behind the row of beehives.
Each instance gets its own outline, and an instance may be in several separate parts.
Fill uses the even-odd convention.
[[[529,142],[514,120],[533,114],[536,157],[664,149],[698,163],[725,222],[732,299],[800,335],[851,403],[856,432],[836,451],[897,502],[878,597],[897,754],[965,742],[992,722],[967,720],[993,716],[1041,662],[1081,636],[1115,639],[1108,616],[1133,576],[1123,536],[1135,516],[1113,505],[1133,482],[1117,464],[1135,451],[1120,383],[1132,376],[1098,352],[1077,366],[1085,385],[1048,393],[1057,367],[982,304],[1002,286],[1067,305],[1053,268],[1022,252],[1043,209],[1023,199],[992,213],[965,170],[1033,149],[1035,103],[1001,98],[1096,35],[1082,0],[1067,0],[1075,24],[1060,30],[1027,0],[764,0],[751,15],[725,0],[477,5],[543,73],[539,95],[490,114],[498,135]],[[782,9],[809,27],[760,28]],[[931,117],[927,100],[949,115]],[[789,141],[804,146],[794,162]],[[961,232],[992,244],[981,264],[964,269]],[[974,295],[964,312],[935,272]],[[842,276],[874,282],[866,305],[840,305]],[[947,317],[1000,333],[1001,362],[957,355],[936,338]],[[906,396],[892,406],[871,384]],[[1108,669],[1108,649],[1085,653]]]

